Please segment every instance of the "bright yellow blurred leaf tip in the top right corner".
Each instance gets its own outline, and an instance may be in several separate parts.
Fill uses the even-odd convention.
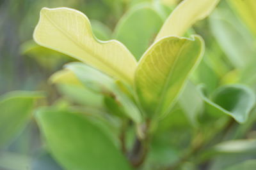
[[[237,11],[244,23],[256,36],[256,1],[255,0],[228,0],[228,3]]]

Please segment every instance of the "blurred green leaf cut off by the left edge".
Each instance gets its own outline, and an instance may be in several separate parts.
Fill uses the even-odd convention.
[[[0,147],[7,145],[29,122],[40,92],[15,91],[0,97]]]

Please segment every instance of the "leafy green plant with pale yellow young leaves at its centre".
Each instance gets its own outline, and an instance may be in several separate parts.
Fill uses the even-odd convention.
[[[78,60],[49,79],[63,101],[35,113],[54,160],[65,169],[198,169],[223,153],[254,153],[255,139],[231,139],[239,139],[246,131],[250,116],[255,119],[255,93],[243,81],[234,80],[237,72],[229,71],[228,64],[209,57],[209,44],[205,46],[191,29],[218,3],[185,0],[173,11],[159,3],[140,4],[118,22],[113,33],[117,40],[109,41],[97,38],[108,39],[108,34],[93,29],[80,11],[43,8],[33,34],[35,42]],[[220,27],[228,29],[216,19],[218,12],[210,18],[210,27],[222,45],[230,43],[232,36],[220,36]],[[242,13],[242,18],[247,15]],[[253,28],[251,22],[248,25]],[[230,46],[223,51],[243,70],[250,59],[237,59],[243,50],[234,52]],[[217,85],[223,77],[228,82]],[[35,95],[26,97],[15,101],[26,108],[20,121],[28,120]],[[0,108],[12,102],[5,99]],[[236,122],[246,124],[230,137]],[[17,129],[12,129],[13,136]],[[10,136],[4,138],[6,143]],[[255,160],[250,160],[227,169],[254,165]]]

